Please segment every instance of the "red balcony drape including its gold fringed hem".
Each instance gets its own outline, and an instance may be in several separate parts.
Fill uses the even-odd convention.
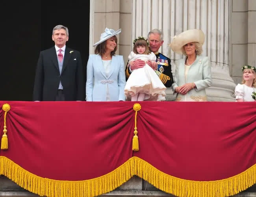
[[[0,174],[39,195],[100,195],[133,175],[179,196],[256,183],[256,102],[139,102],[139,151],[134,102],[5,103]]]

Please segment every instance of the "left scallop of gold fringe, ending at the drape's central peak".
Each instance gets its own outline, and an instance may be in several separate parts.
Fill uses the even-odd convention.
[[[58,181],[34,175],[7,157],[0,156],[0,175],[8,177],[25,190],[48,197],[93,197],[111,192],[132,178],[134,168],[134,159],[130,158],[101,177],[85,181]]]

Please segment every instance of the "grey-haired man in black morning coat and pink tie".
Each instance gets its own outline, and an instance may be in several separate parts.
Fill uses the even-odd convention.
[[[35,72],[34,101],[85,100],[85,77],[79,51],[66,47],[67,27],[53,28],[55,46],[41,51]]]

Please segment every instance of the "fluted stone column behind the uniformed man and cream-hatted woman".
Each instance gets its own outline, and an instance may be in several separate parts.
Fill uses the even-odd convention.
[[[182,55],[173,53],[168,46],[172,37],[187,29],[202,29],[202,55],[209,57],[213,81],[206,89],[208,99],[234,101],[236,84],[229,74],[229,9],[229,0],[132,0],[132,39],[147,36],[151,29],[161,29],[164,43],[160,53],[175,62]]]

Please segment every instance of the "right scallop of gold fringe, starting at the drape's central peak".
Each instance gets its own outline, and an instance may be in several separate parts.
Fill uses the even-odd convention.
[[[135,157],[135,175],[156,188],[180,197],[228,197],[256,183],[256,164],[233,177],[217,181],[189,181],[173,177]]]

